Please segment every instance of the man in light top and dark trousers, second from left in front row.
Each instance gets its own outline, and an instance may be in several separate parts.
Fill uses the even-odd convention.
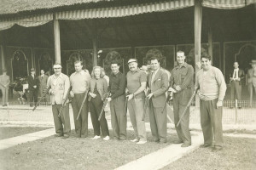
[[[78,138],[86,138],[88,136],[88,99],[85,99],[86,91],[90,88],[90,74],[83,70],[83,62],[74,62],[75,72],[70,76],[72,91],[70,96],[72,100],[73,119],[75,124],[75,132]],[[82,108],[80,116],[79,110]],[[77,119],[78,117],[78,119]]]

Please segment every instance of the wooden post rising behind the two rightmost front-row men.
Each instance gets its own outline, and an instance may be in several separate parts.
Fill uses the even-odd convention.
[[[195,0],[195,74],[201,68],[196,64],[201,61],[201,20],[202,20],[202,6],[201,0]],[[195,105],[199,105],[199,98],[195,98]]]

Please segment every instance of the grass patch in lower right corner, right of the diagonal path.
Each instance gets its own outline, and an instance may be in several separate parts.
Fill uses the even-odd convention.
[[[256,139],[224,137],[224,150],[199,148],[162,170],[253,170],[256,169]]]

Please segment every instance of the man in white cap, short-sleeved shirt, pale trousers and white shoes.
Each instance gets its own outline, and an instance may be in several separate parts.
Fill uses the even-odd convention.
[[[127,89],[128,89],[128,110],[131,124],[134,129],[136,139],[131,142],[145,144],[147,142],[147,133],[143,119],[145,93],[147,85],[147,74],[137,68],[137,59],[129,59],[128,66],[130,71],[127,72]]]

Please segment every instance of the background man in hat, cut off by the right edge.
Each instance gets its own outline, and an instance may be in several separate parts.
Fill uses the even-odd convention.
[[[253,59],[250,63],[252,65],[252,68],[248,70],[247,72],[247,82],[248,82],[248,90],[250,94],[250,105],[252,106],[253,102],[253,89],[254,93],[256,94],[256,59]]]

